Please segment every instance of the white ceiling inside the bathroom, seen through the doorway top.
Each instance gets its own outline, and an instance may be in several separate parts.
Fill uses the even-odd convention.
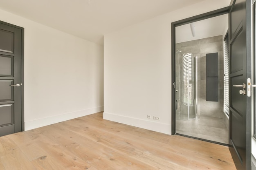
[[[225,35],[228,29],[228,14],[193,22],[193,25],[195,37],[192,36],[190,24],[176,27],[176,43]]]

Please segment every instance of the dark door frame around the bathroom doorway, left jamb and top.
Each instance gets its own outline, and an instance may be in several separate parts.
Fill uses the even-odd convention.
[[[189,24],[191,22],[196,22],[196,21],[200,21],[200,20],[205,20],[208,18],[212,18],[212,17],[216,17],[219,15],[224,15],[229,13],[229,7],[225,7],[222,9],[217,9],[215,11],[211,11],[211,12],[207,12],[207,13],[203,13],[200,15],[196,15],[190,18],[186,18],[183,20],[179,20],[176,22],[172,22],[171,23],[171,54],[172,54],[172,104],[171,104],[171,110],[172,110],[172,114],[171,114],[171,134],[175,135],[176,133],[176,113],[175,113],[175,44],[176,44],[176,38],[175,38],[175,27],[176,26],[181,26],[184,24]]]

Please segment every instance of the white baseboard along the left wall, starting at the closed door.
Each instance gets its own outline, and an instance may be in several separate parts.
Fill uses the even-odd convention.
[[[93,113],[102,112],[104,110],[104,106],[99,106],[96,108],[88,108],[85,110],[79,110],[72,113],[65,113],[61,115],[56,115],[52,117],[45,117],[42,119],[32,120],[32,121],[25,121],[25,130],[31,130],[34,128],[39,128],[42,126],[47,126],[50,124],[56,124],[61,121],[66,121],[70,119],[75,119],[77,117],[82,117],[86,115],[91,115]]]

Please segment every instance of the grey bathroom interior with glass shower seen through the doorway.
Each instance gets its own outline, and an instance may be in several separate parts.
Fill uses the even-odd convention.
[[[228,144],[227,29],[227,15],[175,28],[176,134]]]

